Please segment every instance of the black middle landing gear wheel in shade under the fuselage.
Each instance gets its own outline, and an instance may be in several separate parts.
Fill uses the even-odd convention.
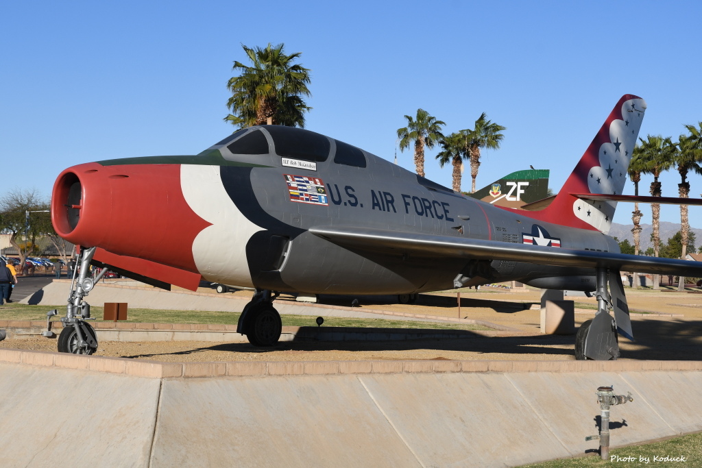
[[[237,333],[246,335],[251,345],[274,346],[280,339],[283,327],[280,314],[272,304],[278,295],[275,291],[257,289],[241,312]]]

